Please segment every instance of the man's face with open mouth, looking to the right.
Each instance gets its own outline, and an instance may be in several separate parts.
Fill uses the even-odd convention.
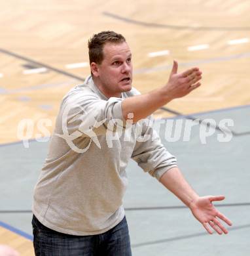
[[[106,43],[103,47],[103,61],[97,64],[95,76],[99,88],[106,96],[120,96],[132,88],[132,54],[126,42]]]

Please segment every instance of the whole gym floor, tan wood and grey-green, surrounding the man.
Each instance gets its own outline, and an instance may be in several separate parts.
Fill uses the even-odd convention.
[[[210,236],[183,203],[131,161],[124,207],[133,255],[249,255],[249,1],[128,1],[120,8],[113,0],[3,3],[0,244],[33,255],[31,200],[49,139],[43,134],[44,142],[35,140],[41,133],[37,124],[50,119],[52,132],[62,96],[88,75],[88,38],[109,29],[127,38],[134,86],[142,93],[166,83],[173,59],[180,72],[198,66],[204,73],[202,87],[155,113],[155,125],[198,194],[226,196],[217,205],[233,223],[229,234]],[[192,127],[185,141],[185,125],[197,118],[205,121]],[[22,119],[34,124],[25,145],[18,134]],[[208,119],[215,127],[204,143]],[[230,130],[219,129],[223,119],[233,121]],[[171,120],[173,134],[175,124],[182,127],[176,141]],[[232,138],[219,142],[223,135]]]

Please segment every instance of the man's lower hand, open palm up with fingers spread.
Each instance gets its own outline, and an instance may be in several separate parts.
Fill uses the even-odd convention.
[[[198,221],[200,221],[200,223],[202,223],[209,234],[213,234],[210,227],[218,234],[228,233],[228,230],[221,224],[219,219],[223,220],[229,226],[232,225],[232,222],[220,213],[212,203],[213,201],[221,200],[224,200],[224,196],[204,196],[190,203],[192,214]]]

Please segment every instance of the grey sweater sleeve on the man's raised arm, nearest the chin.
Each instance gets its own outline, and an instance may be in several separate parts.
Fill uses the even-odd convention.
[[[63,100],[60,108],[62,125],[69,134],[82,133],[82,137],[105,135],[107,129],[124,129],[122,98],[102,100],[94,94],[75,93]]]

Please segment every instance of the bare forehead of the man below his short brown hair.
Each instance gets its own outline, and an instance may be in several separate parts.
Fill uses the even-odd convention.
[[[104,59],[112,58],[122,58],[127,57],[131,54],[130,47],[128,43],[105,43],[103,47],[103,57]]]

